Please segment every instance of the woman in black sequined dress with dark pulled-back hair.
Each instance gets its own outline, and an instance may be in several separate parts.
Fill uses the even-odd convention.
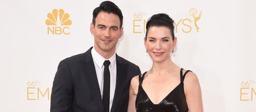
[[[131,80],[129,112],[202,112],[202,97],[196,74],[173,63],[177,38],[173,20],[167,14],[150,17],[144,38],[146,52],[153,60],[148,72]]]

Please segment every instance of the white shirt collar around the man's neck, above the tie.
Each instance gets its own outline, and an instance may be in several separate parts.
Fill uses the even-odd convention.
[[[99,53],[96,52],[95,48],[93,47],[92,48],[92,57],[93,57],[93,60],[95,61],[96,65],[101,69],[102,67],[104,67],[103,63],[105,60],[109,60],[110,61],[110,65],[109,65],[109,69],[113,70],[114,69],[114,66],[116,64],[116,57],[115,57],[115,53],[114,55],[112,55],[111,58],[109,59],[105,59],[103,58]]]

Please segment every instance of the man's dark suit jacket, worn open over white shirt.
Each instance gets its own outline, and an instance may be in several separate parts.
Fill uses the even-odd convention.
[[[51,94],[51,112],[103,112],[92,47],[85,53],[60,61]],[[117,82],[111,112],[127,111],[129,87],[139,67],[117,56]]]

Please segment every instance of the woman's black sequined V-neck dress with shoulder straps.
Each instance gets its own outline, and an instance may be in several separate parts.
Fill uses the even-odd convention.
[[[139,89],[136,97],[136,111],[137,112],[187,112],[187,103],[184,93],[183,80],[186,76],[186,71],[182,75],[183,69],[180,70],[180,84],[174,88],[159,104],[154,104],[149,99],[147,93],[142,88],[143,78],[145,73],[139,75]]]

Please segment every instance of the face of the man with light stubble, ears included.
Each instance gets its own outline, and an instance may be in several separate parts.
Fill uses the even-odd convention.
[[[101,11],[95,18],[95,26],[90,24],[94,35],[94,48],[99,54],[114,53],[118,39],[123,35],[118,15]]]

